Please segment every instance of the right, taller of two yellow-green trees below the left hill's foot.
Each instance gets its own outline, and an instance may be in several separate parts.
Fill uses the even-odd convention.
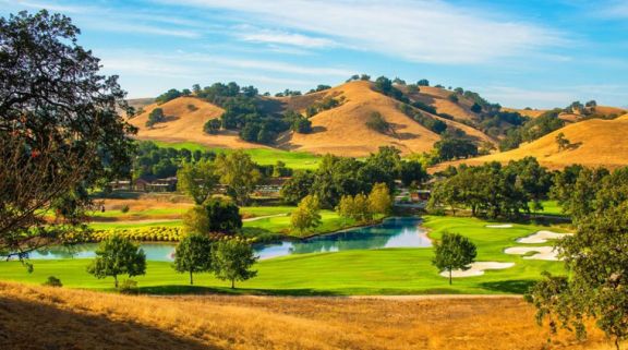
[[[262,179],[262,174],[251,156],[242,150],[228,155],[219,154],[215,161],[220,182],[229,186],[231,196],[242,206],[249,203],[251,192]]]

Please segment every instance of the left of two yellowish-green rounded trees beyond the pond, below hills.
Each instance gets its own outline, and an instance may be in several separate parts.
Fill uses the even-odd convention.
[[[190,195],[196,205],[201,205],[212,196],[219,177],[214,162],[200,160],[194,164],[184,162],[177,171],[177,189]]]

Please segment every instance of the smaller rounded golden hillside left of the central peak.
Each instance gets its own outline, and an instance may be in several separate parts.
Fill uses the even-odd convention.
[[[161,108],[166,122],[147,128],[148,114]],[[144,112],[129,122],[137,126],[137,138],[162,142],[195,142],[208,147],[225,148],[266,148],[263,145],[240,140],[237,132],[222,131],[217,135],[203,132],[203,125],[210,119],[220,118],[224,110],[195,97],[179,97],[162,105],[152,104]]]

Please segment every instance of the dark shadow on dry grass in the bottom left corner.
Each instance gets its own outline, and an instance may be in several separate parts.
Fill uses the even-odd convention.
[[[64,310],[64,299],[53,294],[43,294],[43,300],[53,304],[0,297],[1,349],[222,349],[132,318],[90,315],[88,307],[84,309],[86,312],[82,307]]]

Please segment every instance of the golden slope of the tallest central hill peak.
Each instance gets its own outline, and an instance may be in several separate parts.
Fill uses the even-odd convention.
[[[366,156],[379,146],[390,145],[403,154],[430,150],[440,137],[397,109],[398,101],[372,88],[370,82],[350,82],[326,90],[325,96],[345,98],[333,109],[312,117],[310,134],[287,133],[279,138],[279,147],[316,154]],[[370,129],[366,122],[379,112],[392,132],[383,134]]]

